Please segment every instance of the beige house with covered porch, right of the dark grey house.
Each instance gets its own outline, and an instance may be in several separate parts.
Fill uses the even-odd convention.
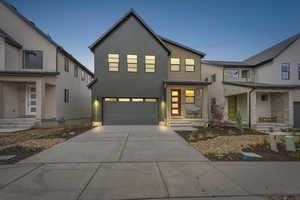
[[[210,105],[252,127],[300,128],[300,34],[242,62],[203,61]]]

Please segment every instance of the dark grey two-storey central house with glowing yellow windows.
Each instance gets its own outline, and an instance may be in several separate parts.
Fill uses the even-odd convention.
[[[130,10],[90,46],[97,124],[190,125],[207,120],[204,53],[158,36]]]

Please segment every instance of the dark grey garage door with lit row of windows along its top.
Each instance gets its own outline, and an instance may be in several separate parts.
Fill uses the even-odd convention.
[[[157,125],[159,121],[157,99],[104,98],[104,125]]]

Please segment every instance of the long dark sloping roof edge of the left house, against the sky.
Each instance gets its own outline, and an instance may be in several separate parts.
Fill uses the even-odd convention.
[[[17,15],[18,17],[20,17],[26,24],[28,24],[31,28],[33,28],[35,31],[37,31],[47,41],[49,41],[51,44],[53,44],[54,46],[56,46],[58,48],[58,50],[60,50],[62,53],[64,53],[65,56],[67,56],[71,60],[75,61],[84,71],[86,71],[88,74],[94,76],[93,72],[91,72],[88,68],[86,68],[83,64],[81,64],[73,56],[70,57],[70,55],[71,55],[70,53],[68,53],[62,46],[60,46],[59,44],[57,44],[48,34],[44,33],[41,29],[39,29],[32,21],[30,21],[24,15],[22,15],[14,6],[8,4],[5,0],[0,0],[0,3],[2,3],[5,7],[7,7],[15,15]]]

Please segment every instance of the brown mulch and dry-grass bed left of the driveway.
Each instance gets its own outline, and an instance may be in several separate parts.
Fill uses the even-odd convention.
[[[91,129],[91,127],[74,127],[74,128],[54,128],[52,129],[33,129],[26,132],[16,132],[3,134],[0,137],[0,143],[2,142],[2,148],[0,148],[0,156],[3,155],[16,155],[16,157],[0,161],[0,165],[14,164],[20,160],[23,160],[29,156],[39,153],[51,146],[75,137]],[[13,137],[13,138],[12,138]],[[17,138],[17,139],[16,139]],[[47,140],[49,142],[47,142]],[[55,140],[55,141],[54,141]],[[26,143],[37,143],[42,146],[28,146]],[[54,141],[54,142],[52,142]],[[44,144],[43,144],[43,143]],[[3,144],[6,144],[5,146]],[[0,147],[1,147],[0,146]],[[4,148],[3,148],[4,147]]]

